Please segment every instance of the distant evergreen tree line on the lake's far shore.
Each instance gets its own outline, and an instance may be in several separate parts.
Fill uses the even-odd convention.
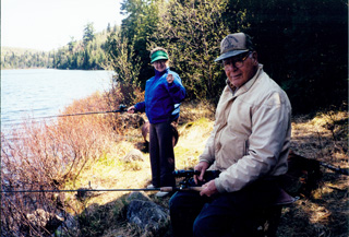
[[[84,26],[83,39],[71,40],[63,47],[48,52],[37,50],[2,48],[1,69],[81,69],[103,70],[107,64],[106,42],[111,32],[118,31],[117,26],[95,33],[94,23]]]

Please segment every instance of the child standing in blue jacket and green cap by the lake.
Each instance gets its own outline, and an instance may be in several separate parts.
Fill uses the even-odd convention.
[[[157,47],[151,51],[151,63],[155,76],[146,81],[144,102],[128,109],[128,112],[146,112],[149,120],[149,155],[152,185],[148,188],[173,187],[174,152],[172,126],[178,121],[180,103],[185,97],[185,88],[180,76],[170,70],[166,49]],[[167,192],[158,192],[165,197]]]

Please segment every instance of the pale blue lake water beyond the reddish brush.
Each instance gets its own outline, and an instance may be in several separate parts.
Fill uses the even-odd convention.
[[[112,71],[1,70],[1,132],[23,118],[56,116],[74,99],[110,87]]]

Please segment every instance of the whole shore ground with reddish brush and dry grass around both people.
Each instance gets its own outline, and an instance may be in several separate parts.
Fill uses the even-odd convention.
[[[75,100],[62,114],[108,109],[107,94],[96,93]],[[185,102],[181,106],[180,139],[174,147],[176,168],[191,169],[203,152],[214,123],[213,105]],[[144,115],[94,115],[59,118],[57,123],[24,121],[13,131],[21,139],[2,142],[2,189],[76,190],[145,188],[151,182],[148,153],[141,126]],[[314,115],[292,118],[291,150],[310,159],[348,168],[348,111],[332,108]],[[26,135],[21,137],[19,133]],[[8,147],[5,147],[8,145]],[[125,161],[133,150],[142,151],[143,161]],[[348,176],[324,167],[318,186],[310,194],[282,211],[277,236],[347,236]],[[306,176],[304,176],[306,178]],[[45,236],[28,213],[43,209],[74,216],[73,228],[60,228],[58,236],[171,236],[166,230],[145,232],[124,221],[130,192],[97,192],[80,199],[76,192],[1,194],[1,230],[8,236],[27,233]],[[165,209],[169,198],[151,200]],[[12,233],[11,233],[12,232]]]

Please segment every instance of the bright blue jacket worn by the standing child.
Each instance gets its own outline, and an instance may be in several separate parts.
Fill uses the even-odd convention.
[[[166,81],[168,74],[174,80]],[[180,103],[185,98],[185,88],[179,75],[167,68],[163,72],[155,70],[155,76],[146,81],[144,102],[134,105],[136,111],[146,114],[151,123],[172,121],[179,117]]]

